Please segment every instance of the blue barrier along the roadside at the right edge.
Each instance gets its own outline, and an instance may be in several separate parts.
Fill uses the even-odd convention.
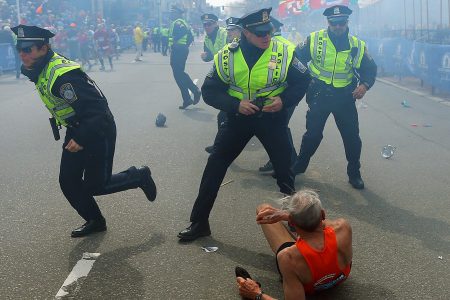
[[[450,92],[450,45],[429,44],[404,38],[368,38],[369,53],[388,75],[413,76]]]

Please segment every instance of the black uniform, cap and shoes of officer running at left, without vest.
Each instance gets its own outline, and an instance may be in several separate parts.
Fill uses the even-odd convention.
[[[18,35],[18,49],[36,43],[34,37],[48,39],[53,34],[35,26],[20,25],[12,30]],[[44,41],[38,41],[44,44]],[[22,74],[33,83],[45,72],[54,52],[49,49],[32,69],[22,66]],[[69,92],[68,92],[69,91]],[[130,167],[112,174],[116,144],[116,124],[108,102],[96,83],[81,69],[69,71],[58,77],[51,93],[73,108],[75,115],[68,122],[63,143],[59,183],[64,196],[86,224],[72,231],[73,237],[106,230],[106,222],[93,196],[106,195],[132,188],[142,188],[150,201],[155,200],[156,186],[148,167]],[[83,149],[69,152],[65,149],[70,140]]]

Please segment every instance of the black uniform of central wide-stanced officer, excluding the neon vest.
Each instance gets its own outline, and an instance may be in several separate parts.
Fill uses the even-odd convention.
[[[270,12],[269,9],[266,11]],[[252,17],[252,14],[249,16]],[[241,22],[245,24],[250,20],[242,18]],[[249,43],[244,36],[239,42],[239,47],[249,70],[265,51]],[[245,116],[239,113],[240,101],[228,94],[229,85],[220,79],[215,67],[207,75],[202,86],[203,99],[208,105],[227,112],[228,121],[217,133],[214,151],[208,158],[199,193],[191,212],[192,224],[178,234],[181,240],[194,240],[210,234],[208,218],[220,184],[230,164],[253,136],[261,141],[273,161],[278,174],[277,184],[280,191],[285,194],[294,192],[294,178],[289,159],[290,146],[286,130],[286,109],[300,102],[310,82],[310,75],[306,68],[300,68],[299,64],[298,60],[292,59],[289,66],[288,87],[279,95],[283,101],[283,109],[275,113],[261,113],[258,116]]]

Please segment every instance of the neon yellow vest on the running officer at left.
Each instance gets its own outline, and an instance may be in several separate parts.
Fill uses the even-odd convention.
[[[39,74],[36,83],[36,88],[45,107],[55,117],[59,125],[66,127],[68,125],[66,120],[74,116],[75,111],[66,100],[53,95],[52,88],[59,76],[75,69],[80,69],[80,65],[55,53],[46,68]]]

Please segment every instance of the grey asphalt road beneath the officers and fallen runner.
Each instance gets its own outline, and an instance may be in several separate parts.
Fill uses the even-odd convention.
[[[216,133],[217,111],[204,102],[182,111],[168,58],[133,53],[113,72],[90,72],[108,98],[118,127],[114,171],[148,164],[158,186],[149,203],[142,191],[98,197],[108,231],[72,239],[82,220],[58,185],[61,142],[34,85],[0,77],[0,298],[53,299],[82,258],[100,253],[87,277],[62,299],[240,299],[234,267],[243,266],[266,293],[282,287],[263,234],[258,204],[280,197],[275,181],[257,169],[267,160],[252,140],[230,167],[210,223],[212,236],[181,244],[201,174],[203,150]],[[189,56],[199,84],[210,68]],[[401,105],[407,100],[410,108]],[[450,106],[382,82],[359,108],[366,189],[347,183],[341,138],[332,117],[309,169],[296,187],[320,191],[329,218],[353,226],[351,277],[314,299],[448,299],[450,296]],[[154,125],[167,116],[167,127]],[[290,127],[297,151],[305,131],[301,102]],[[417,126],[412,126],[416,124]],[[427,125],[425,127],[424,125]],[[380,155],[397,147],[391,159]],[[217,246],[204,252],[202,246]]]

